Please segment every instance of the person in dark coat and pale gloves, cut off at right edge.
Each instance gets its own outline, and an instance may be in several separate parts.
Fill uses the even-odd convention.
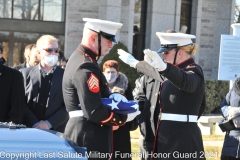
[[[222,115],[227,121],[233,121],[231,125],[234,125],[232,130],[226,132],[221,160],[237,160],[240,158],[240,78],[237,78],[233,84],[231,90],[227,93],[226,98],[220,105]],[[238,124],[236,125],[234,118],[237,118]],[[236,125],[236,126],[235,126]]]

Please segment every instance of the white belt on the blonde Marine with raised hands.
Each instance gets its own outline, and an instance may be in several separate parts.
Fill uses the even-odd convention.
[[[178,121],[178,122],[197,122],[198,116],[196,115],[184,115],[184,114],[171,114],[171,113],[160,113],[160,120],[167,121]]]

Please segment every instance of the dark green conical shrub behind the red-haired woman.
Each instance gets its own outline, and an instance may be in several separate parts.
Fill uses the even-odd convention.
[[[128,52],[127,47],[123,43],[118,42],[113,46],[113,48],[109,51],[109,53],[102,59],[100,68],[102,69],[104,62],[106,62],[107,60],[118,61],[120,72],[122,72],[128,77],[128,81],[130,82],[133,89],[135,87],[135,80],[139,77],[139,73],[137,72],[136,69],[130,67],[128,64],[124,63],[121,59],[118,58],[117,49],[123,49],[124,51]]]

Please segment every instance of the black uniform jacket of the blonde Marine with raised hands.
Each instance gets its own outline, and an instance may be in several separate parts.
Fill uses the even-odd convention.
[[[162,82],[160,107],[163,113],[199,115],[204,97],[203,72],[192,58],[174,66],[167,64],[160,74],[168,80],[162,81],[158,71],[146,62],[137,64],[138,71]],[[167,159],[205,159],[201,131],[195,122],[160,121],[157,129],[155,151],[169,154]],[[196,157],[187,157],[191,156]],[[195,153],[195,154],[193,154]],[[187,155],[188,154],[188,155]],[[181,157],[180,157],[181,156]],[[163,159],[158,157],[157,159]]]

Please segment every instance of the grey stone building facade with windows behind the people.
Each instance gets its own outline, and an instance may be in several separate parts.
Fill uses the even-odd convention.
[[[217,79],[221,34],[232,34],[236,0],[1,0],[0,42],[7,65],[24,61],[24,46],[43,34],[59,38],[68,58],[81,41],[82,18],[123,23],[117,39],[139,60],[158,50],[156,32],[174,29],[196,35],[195,60],[206,79]],[[186,30],[187,28],[187,30]]]

